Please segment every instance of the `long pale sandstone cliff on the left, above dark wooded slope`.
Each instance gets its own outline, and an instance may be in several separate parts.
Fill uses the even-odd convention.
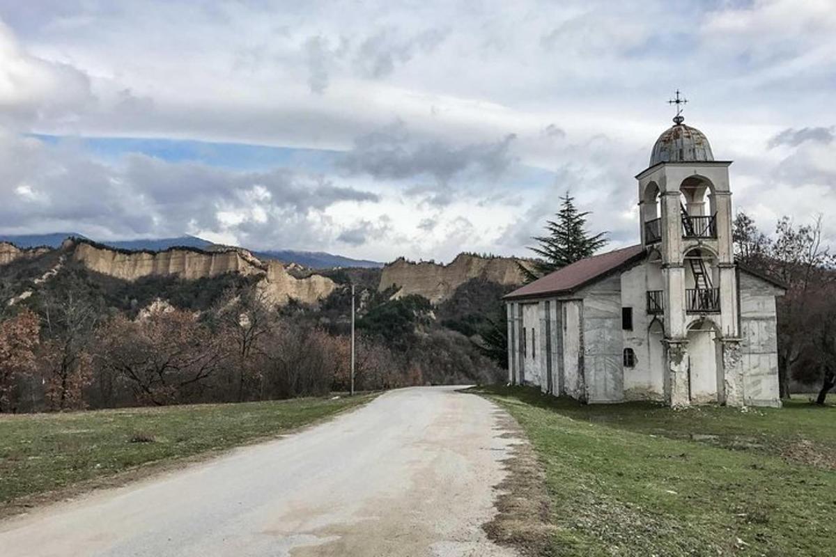
[[[302,303],[315,303],[337,287],[328,277],[291,276],[278,261],[260,261],[247,250],[228,248],[202,251],[195,248],[171,248],[165,251],[126,251],[99,246],[87,241],[68,240],[62,246],[72,254],[73,261],[90,271],[135,281],[143,276],[176,275],[186,280],[217,276],[227,272],[262,275],[258,281],[270,301],[287,303],[291,298]]]

